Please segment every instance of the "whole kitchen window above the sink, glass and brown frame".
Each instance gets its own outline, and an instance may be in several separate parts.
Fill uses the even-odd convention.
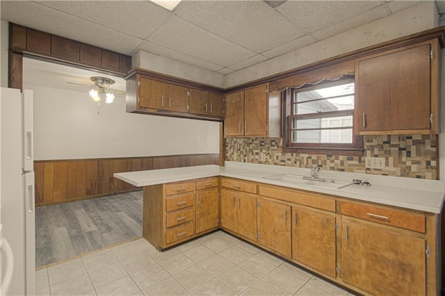
[[[338,81],[321,81],[315,85],[288,88],[284,94],[284,149],[361,155],[362,138],[353,132],[353,76],[344,76]]]

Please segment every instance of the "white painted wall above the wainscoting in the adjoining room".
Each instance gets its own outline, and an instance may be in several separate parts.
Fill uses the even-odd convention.
[[[219,123],[125,112],[124,99],[24,85],[34,92],[36,160],[206,154],[219,151]]]

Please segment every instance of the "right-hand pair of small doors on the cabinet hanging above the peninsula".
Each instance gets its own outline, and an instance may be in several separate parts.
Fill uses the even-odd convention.
[[[188,104],[190,105],[189,113],[216,117],[224,115],[223,94],[191,88]]]

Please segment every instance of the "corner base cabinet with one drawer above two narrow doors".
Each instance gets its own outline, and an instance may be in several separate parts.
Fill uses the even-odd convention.
[[[257,184],[221,180],[221,227],[257,241]]]

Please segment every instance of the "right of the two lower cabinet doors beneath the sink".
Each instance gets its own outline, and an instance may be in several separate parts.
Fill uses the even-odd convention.
[[[292,207],[292,258],[335,277],[335,215]]]

